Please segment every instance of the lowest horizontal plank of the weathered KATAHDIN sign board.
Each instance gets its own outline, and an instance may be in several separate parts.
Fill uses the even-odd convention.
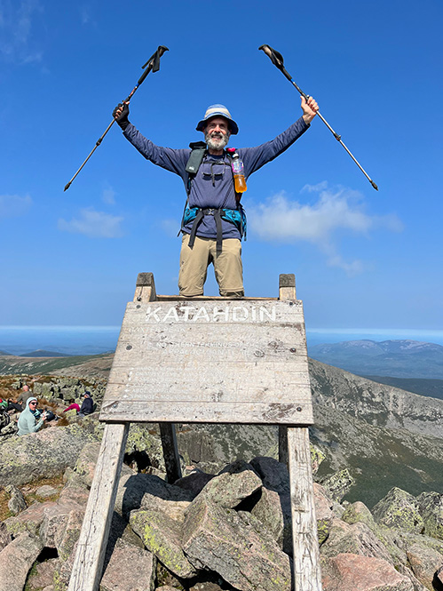
[[[100,420],[128,422],[312,425],[312,403],[194,403],[114,400],[103,403]]]

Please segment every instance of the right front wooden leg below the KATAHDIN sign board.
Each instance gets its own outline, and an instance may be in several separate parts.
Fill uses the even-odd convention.
[[[288,451],[294,589],[321,591],[320,551],[307,427],[288,428]]]

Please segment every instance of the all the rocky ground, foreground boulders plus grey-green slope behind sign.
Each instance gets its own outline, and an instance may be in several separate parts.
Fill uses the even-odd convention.
[[[60,414],[85,387],[100,405],[112,356],[73,360],[32,378]],[[443,591],[443,402],[320,362],[310,375],[323,591]],[[67,590],[103,433],[98,413],[70,413],[0,438],[1,591]],[[177,430],[184,477],[166,483],[158,426],[131,425],[99,591],[290,591],[277,427]]]

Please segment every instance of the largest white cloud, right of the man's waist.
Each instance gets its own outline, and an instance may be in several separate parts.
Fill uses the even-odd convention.
[[[395,232],[403,228],[395,215],[368,214],[358,191],[349,188],[332,190],[326,181],[306,185],[302,191],[318,194],[317,200],[302,204],[290,200],[282,191],[264,204],[249,205],[250,228],[266,241],[294,243],[304,240],[315,244],[327,256],[329,266],[343,268],[350,275],[360,273],[363,264],[360,260],[346,261],[336,252],[336,236],[344,232],[368,236],[376,228]]]

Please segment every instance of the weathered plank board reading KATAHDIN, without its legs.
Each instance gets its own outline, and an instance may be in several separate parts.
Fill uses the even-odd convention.
[[[130,302],[100,419],[312,424],[302,302]]]

